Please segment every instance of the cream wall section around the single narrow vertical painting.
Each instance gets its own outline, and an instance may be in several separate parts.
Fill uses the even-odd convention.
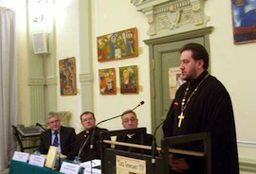
[[[56,1],[56,55],[57,64],[60,60],[66,58],[76,58],[77,68],[77,87],[80,89],[79,73],[80,73],[80,55],[79,55],[79,17],[78,17],[78,1],[65,0]],[[59,71],[59,68],[57,68]],[[57,72],[59,77],[59,73]],[[59,78],[58,78],[59,79]],[[59,80],[58,80],[59,84]],[[79,115],[81,110],[81,94],[77,96],[60,96],[60,87],[58,85],[58,111],[69,111],[72,113],[70,125],[80,131],[81,124]]]

